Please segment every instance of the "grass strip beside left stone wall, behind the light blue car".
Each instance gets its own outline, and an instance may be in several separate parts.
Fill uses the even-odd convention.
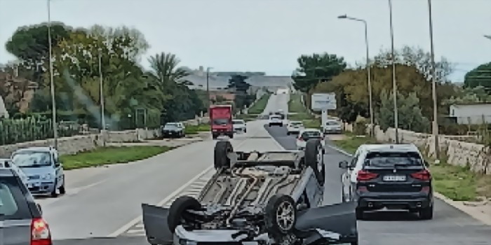
[[[159,155],[171,149],[168,146],[109,146],[76,155],[62,155],[61,160],[65,170],[81,169],[134,162]]]

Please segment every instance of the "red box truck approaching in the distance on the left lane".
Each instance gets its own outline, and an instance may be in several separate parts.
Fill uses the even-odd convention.
[[[217,139],[220,135],[227,135],[230,139],[234,138],[231,105],[210,106],[210,123],[213,139]]]

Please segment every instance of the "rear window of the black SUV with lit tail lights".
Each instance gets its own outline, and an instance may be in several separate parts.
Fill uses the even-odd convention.
[[[368,153],[364,165],[367,167],[422,166],[418,153]]]

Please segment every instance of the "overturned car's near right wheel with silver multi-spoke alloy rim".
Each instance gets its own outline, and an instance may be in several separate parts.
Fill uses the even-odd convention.
[[[264,223],[271,238],[281,241],[282,237],[295,230],[296,222],[297,209],[292,197],[276,194],[269,198],[264,209]]]

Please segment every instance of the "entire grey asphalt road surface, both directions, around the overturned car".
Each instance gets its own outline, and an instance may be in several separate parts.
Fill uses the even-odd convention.
[[[271,95],[264,113],[278,109],[288,111],[288,94]],[[248,133],[231,140],[234,148],[240,151],[295,149],[295,139],[286,135],[284,127],[264,127],[266,123],[266,120],[249,122]],[[53,230],[54,244],[147,244],[142,236],[121,234],[139,223],[142,202],[158,204],[194,176],[210,169],[214,144],[210,139],[140,162],[69,172],[67,195],[40,200]],[[347,159],[349,156],[328,144],[325,204],[341,202],[342,171],[337,162]],[[491,244],[490,226],[439,200],[432,221],[417,221],[416,216],[404,212],[383,213],[360,221],[359,232],[363,245]],[[118,237],[107,238],[111,235]]]

